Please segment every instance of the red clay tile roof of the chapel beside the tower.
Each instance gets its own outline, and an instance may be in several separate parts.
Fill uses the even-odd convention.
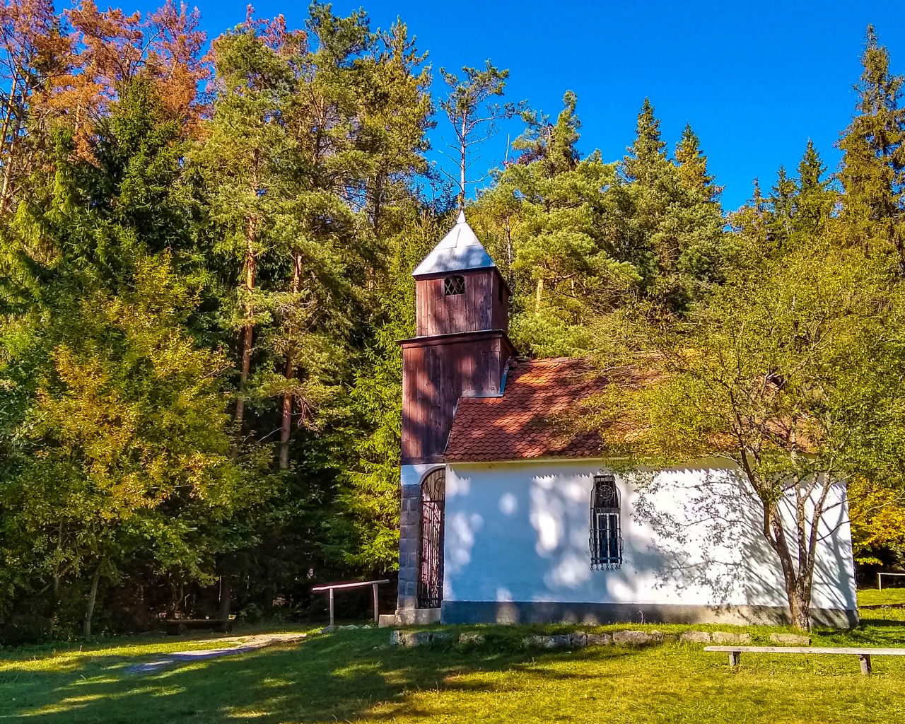
[[[608,380],[584,359],[510,362],[501,397],[462,397],[446,445],[448,462],[600,455],[600,433],[568,430],[557,415],[602,392]]]

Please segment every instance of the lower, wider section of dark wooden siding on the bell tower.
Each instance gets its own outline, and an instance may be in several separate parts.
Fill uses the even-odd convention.
[[[443,457],[459,398],[499,394],[511,354],[499,332],[403,344],[403,464]]]

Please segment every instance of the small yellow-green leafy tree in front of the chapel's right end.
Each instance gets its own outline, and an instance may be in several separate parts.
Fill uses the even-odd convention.
[[[816,253],[748,264],[681,324],[649,330],[656,351],[641,364],[656,381],[614,391],[600,421],[630,467],[736,463],[803,628],[832,486],[858,476],[899,484],[905,471],[900,285],[861,252]]]

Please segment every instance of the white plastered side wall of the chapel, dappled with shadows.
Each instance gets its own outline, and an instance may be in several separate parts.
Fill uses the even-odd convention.
[[[785,607],[759,501],[719,461],[617,476],[624,562],[590,567],[588,519],[601,461],[452,463],[446,473],[444,600]],[[854,609],[843,485],[827,501],[814,608]]]

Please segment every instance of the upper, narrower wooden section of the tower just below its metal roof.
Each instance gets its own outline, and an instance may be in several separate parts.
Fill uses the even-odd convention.
[[[418,337],[438,334],[507,329],[509,293],[496,269],[459,272],[465,279],[465,293],[447,295],[446,276],[415,282]],[[500,290],[502,295],[500,295]]]

